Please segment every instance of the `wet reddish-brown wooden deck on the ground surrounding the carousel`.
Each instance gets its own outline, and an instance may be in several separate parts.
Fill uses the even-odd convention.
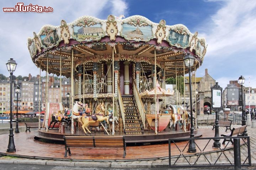
[[[42,131],[42,130],[41,130]],[[55,130],[52,130],[55,131]],[[202,137],[214,137],[214,130],[211,128],[199,128]],[[220,134],[226,133],[225,129],[220,128]],[[120,148],[72,148],[72,155],[64,157],[65,146],[58,143],[48,143],[43,140],[35,140],[34,137],[38,136],[40,131],[35,130],[32,132],[20,132],[14,134],[14,143],[16,152],[6,152],[9,134],[0,135],[0,154],[12,155],[23,158],[35,159],[48,159],[48,160],[71,160],[71,161],[134,161],[134,160],[156,160],[166,159],[169,156],[168,143],[158,143],[155,145],[140,145],[140,146],[127,146],[126,157],[123,158],[123,149]],[[53,132],[52,132],[53,133]],[[56,132],[57,133],[57,132]],[[102,133],[103,134],[103,133]],[[127,137],[127,136],[126,136]],[[137,136],[138,137],[138,136]],[[127,137],[128,138],[128,137]],[[135,137],[134,137],[135,139]],[[204,153],[219,152],[220,149],[213,148],[212,145],[207,145],[208,140],[195,140],[198,147],[204,148]],[[222,141],[220,141],[222,142]],[[242,143],[241,143],[242,144]],[[176,145],[184,148],[184,155],[190,156],[193,153],[187,151],[187,141],[177,142]],[[223,145],[222,147],[225,147]],[[233,148],[229,143],[225,149]],[[171,143],[172,156],[181,154],[174,143]]]

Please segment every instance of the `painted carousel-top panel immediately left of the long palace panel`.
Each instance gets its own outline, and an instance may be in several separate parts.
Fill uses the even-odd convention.
[[[43,31],[40,34],[42,46],[45,49],[58,46],[59,45],[59,36],[55,29],[50,27],[44,27]]]

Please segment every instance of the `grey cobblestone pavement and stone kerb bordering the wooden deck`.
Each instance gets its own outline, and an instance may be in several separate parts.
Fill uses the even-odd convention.
[[[253,120],[255,121],[255,120]],[[241,126],[241,125],[235,125],[235,126]],[[209,128],[212,129],[212,126],[199,126],[200,128]],[[220,127],[224,128],[224,127]],[[242,168],[246,170],[252,170],[256,169],[256,128],[251,128],[251,126],[247,126],[247,133],[248,136],[250,136],[250,149],[251,149],[251,163],[252,167]],[[232,164],[234,164],[234,152],[233,149],[229,149],[228,151],[224,151],[225,154],[222,154],[222,152],[213,152],[213,153],[207,153],[204,154],[205,156],[201,156],[198,158],[198,156],[190,156],[186,158],[178,159],[176,165],[184,165],[185,162],[194,162],[197,160],[197,165],[207,165],[208,160],[215,161],[217,157],[219,157],[220,154],[222,154],[221,159],[218,159],[216,164],[230,164],[228,160]],[[247,157],[247,146],[243,145],[241,146],[241,164]],[[187,159],[187,161],[186,161]],[[247,160],[248,161],[248,160]],[[44,159],[30,159],[30,158],[18,158],[18,157],[9,157],[4,156],[0,157],[0,165],[1,164],[38,164],[38,165],[62,165],[62,166],[69,166],[71,169],[73,168],[111,168],[111,169],[168,169],[169,167],[169,159],[157,159],[157,160],[141,160],[141,161],[126,161],[126,162],[76,162],[76,161],[62,161],[62,160],[44,160]],[[68,169],[70,169],[68,168]],[[1,166],[0,166],[1,169]],[[61,168],[60,168],[61,169]],[[64,169],[64,168],[63,168]],[[171,169],[171,168],[169,168]],[[177,169],[177,168],[176,168]],[[196,169],[196,168],[195,168]],[[197,168],[197,169],[211,169],[211,168]],[[212,169],[229,169],[229,168],[212,168]],[[232,168],[231,168],[232,169]]]

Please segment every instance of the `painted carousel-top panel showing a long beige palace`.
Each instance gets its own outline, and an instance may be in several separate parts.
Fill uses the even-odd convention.
[[[84,18],[73,25],[73,37],[75,40],[82,41],[98,41],[105,32],[101,27],[101,23],[95,22],[92,19]]]

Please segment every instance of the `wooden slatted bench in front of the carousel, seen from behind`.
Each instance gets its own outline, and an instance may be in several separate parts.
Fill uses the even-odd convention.
[[[126,155],[126,142],[124,136],[63,136],[65,154],[71,155],[70,148],[123,148],[123,158]]]

